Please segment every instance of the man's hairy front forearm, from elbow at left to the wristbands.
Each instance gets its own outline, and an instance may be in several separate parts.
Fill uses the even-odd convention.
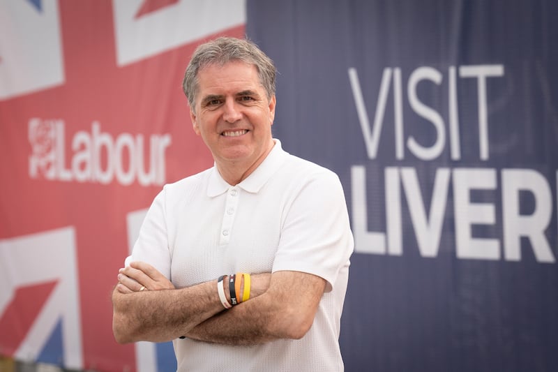
[[[112,294],[114,337],[119,343],[170,341],[223,311],[216,281],[178,290]]]

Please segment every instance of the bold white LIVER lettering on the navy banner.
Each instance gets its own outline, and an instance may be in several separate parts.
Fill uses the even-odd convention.
[[[422,257],[437,257],[444,232],[448,191],[450,183],[453,183],[453,227],[457,258],[501,260],[502,246],[504,260],[518,261],[521,260],[520,238],[527,237],[538,262],[555,262],[555,253],[545,235],[552,220],[552,192],[548,181],[534,170],[502,170],[502,239],[474,237],[474,225],[499,231],[495,202],[484,201],[495,201],[497,198],[496,193],[491,192],[497,190],[496,172],[497,170],[491,168],[438,168],[428,210],[425,201],[428,197],[421,191],[416,168],[384,168],[385,198],[379,198],[385,203],[384,233],[368,231],[367,205],[377,205],[379,200],[368,202],[365,167],[352,166],[352,228],[355,251],[379,255],[403,254],[402,188],[419,253]],[[558,180],[558,172],[556,177]],[[534,196],[535,207],[530,214],[520,214],[520,192],[525,191]],[[474,193],[482,193],[483,202],[476,202],[475,199],[479,197],[475,197]]]

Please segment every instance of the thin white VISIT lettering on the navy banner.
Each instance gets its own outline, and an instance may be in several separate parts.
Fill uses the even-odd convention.
[[[364,103],[359,76],[355,68],[348,69],[349,82],[351,84],[356,112],[359,116],[359,124],[363,133],[363,140],[366,147],[368,158],[377,158],[380,135],[386,112],[389,86],[393,80],[393,133],[395,141],[395,159],[405,158],[405,128],[403,121],[403,102],[402,102],[402,78],[400,68],[384,68],[382,81],[380,82],[379,93],[374,115],[374,124],[370,127],[368,111]],[[393,75],[393,78],[392,78]],[[476,77],[477,80],[477,101],[478,101],[478,147],[480,158],[488,160],[490,149],[488,145],[488,77],[504,76],[504,65],[478,65],[478,66],[459,66],[459,76],[462,78]],[[430,121],[435,128],[435,142],[429,147],[419,144],[414,137],[407,138],[407,148],[421,160],[430,161],[438,158],[446,147],[446,127],[444,119],[435,108],[425,105],[418,99],[418,83],[429,80],[436,85],[441,85],[443,80],[442,73],[436,68],[421,66],[412,71],[407,81],[407,99],[412,110],[419,117]],[[460,160],[460,133],[458,116],[458,84],[456,67],[448,68],[448,128],[449,145],[452,160]]]

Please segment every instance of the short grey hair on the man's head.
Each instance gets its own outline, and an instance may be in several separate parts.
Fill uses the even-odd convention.
[[[191,110],[194,110],[195,98],[199,88],[197,79],[199,70],[210,64],[223,66],[230,61],[243,61],[255,66],[259,75],[259,82],[266,91],[267,99],[269,100],[275,95],[277,69],[271,58],[267,57],[250,40],[223,36],[199,45],[186,68],[182,89],[186,98],[188,98]]]

